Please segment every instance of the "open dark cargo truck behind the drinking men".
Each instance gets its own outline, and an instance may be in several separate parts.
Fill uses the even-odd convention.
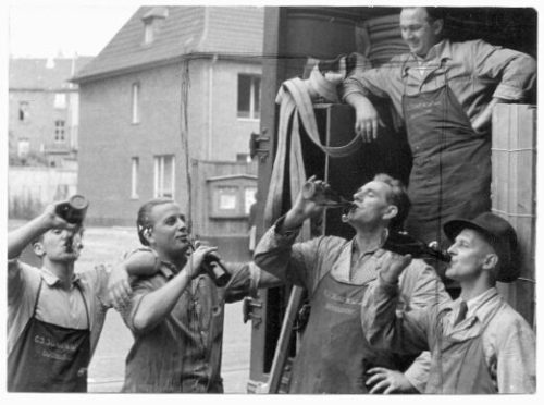
[[[252,135],[252,148],[259,160],[258,238],[272,224],[264,221],[264,204],[277,148],[279,108],[275,103],[282,83],[301,76],[308,58],[334,59],[358,51],[373,64],[405,52],[398,29],[399,8],[267,8],[264,16],[263,74],[260,134]],[[528,8],[459,8],[450,12],[448,36],[453,40],[482,38],[493,45],[517,49],[536,58],[536,11]],[[327,146],[347,144],[354,137],[355,114],[346,105],[314,106],[321,142]],[[493,115],[492,205],[494,212],[512,223],[521,241],[524,263],[521,277],[499,291],[533,327],[534,320],[534,240],[536,175],[536,106],[499,105]],[[369,145],[346,158],[330,158],[302,138],[302,157],[308,175],[317,174],[349,198],[366,181],[380,171],[406,182],[410,157],[401,131],[387,125],[375,145]],[[399,140],[400,139],[400,140]],[[384,154],[384,148],[388,152]],[[290,205],[284,185],[282,211]],[[272,219],[275,220],[275,219]],[[327,211],[320,232],[353,236],[337,211]],[[296,308],[296,319],[285,319],[290,286],[261,291],[258,299],[245,303],[245,318],[251,320],[250,380],[248,392],[268,392],[274,354],[283,351],[285,367],[280,372],[284,391],[288,383],[289,361],[296,356],[304,329],[305,310]],[[304,294],[304,293],[302,293]],[[304,296],[302,296],[304,298]],[[304,299],[302,299],[304,302]],[[289,308],[290,309],[290,308]],[[292,311],[293,312],[293,311]],[[295,329],[287,342],[280,342],[282,326]],[[287,324],[288,323],[288,324]],[[285,336],[285,330],[283,333]],[[275,376],[277,378],[277,376]]]

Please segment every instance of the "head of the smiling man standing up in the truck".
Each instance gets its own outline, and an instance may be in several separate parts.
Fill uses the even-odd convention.
[[[441,8],[404,8],[400,12],[400,35],[418,57],[424,58],[442,40],[444,16]]]

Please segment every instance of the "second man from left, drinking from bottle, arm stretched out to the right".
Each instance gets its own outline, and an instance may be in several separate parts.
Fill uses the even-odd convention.
[[[197,242],[193,249],[185,216],[172,199],[144,204],[137,228],[144,247],[118,266],[147,273],[132,280],[129,305],[116,305],[134,335],[123,392],[222,393],[224,304],[280,281],[249,262],[223,265],[230,281],[218,283],[205,271],[218,248]],[[111,293],[115,303],[126,298],[123,289]]]

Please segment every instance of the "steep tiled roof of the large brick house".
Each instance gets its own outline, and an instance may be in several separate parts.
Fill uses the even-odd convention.
[[[153,41],[145,45],[143,19],[153,17],[161,24]],[[109,76],[187,54],[260,56],[263,24],[264,9],[257,7],[141,7],[73,81]]]

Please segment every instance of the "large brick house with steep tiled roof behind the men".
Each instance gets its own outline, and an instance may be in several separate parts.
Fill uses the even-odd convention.
[[[78,189],[91,201],[91,221],[133,224],[141,202],[157,196],[186,206],[189,167],[193,194],[209,188],[191,210],[224,211],[208,216],[206,230],[246,233],[256,189],[248,145],[259,131],[263,14],[251,7],[143,7],[76,74]],[[223,180],[195,172],[203,167],[208,177]],[[206,208],[210,201],[219,206]]]

